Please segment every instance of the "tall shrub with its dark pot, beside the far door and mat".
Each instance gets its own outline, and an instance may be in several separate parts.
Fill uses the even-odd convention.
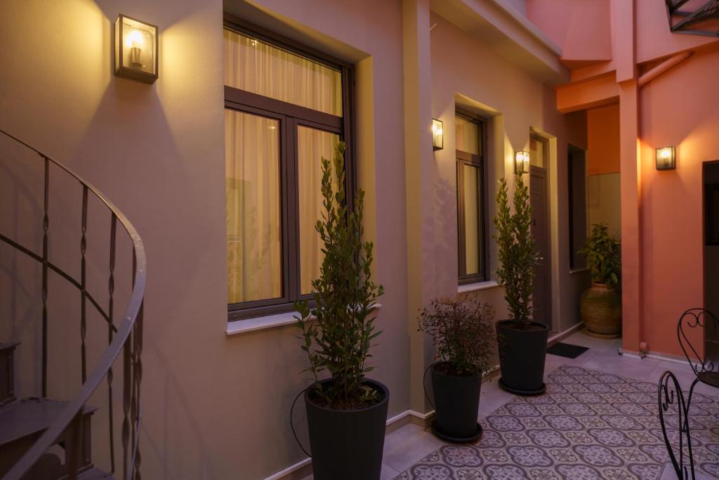
[[[494,218],[500,263],[496,276],[504,286],[510,315],[508,320],[497,322],[502,370],[499,384],[514,394],[536,395],[546,390],[544,360],[549,329],[532,321],[532,284],[539,253],[531,234],[529,191],[521,175],[516,176],[515,186],[512,212],[507,181],[500,180]]]

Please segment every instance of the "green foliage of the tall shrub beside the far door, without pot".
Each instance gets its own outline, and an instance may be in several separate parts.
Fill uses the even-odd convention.
[[[521,175],[516,176],[514,212],[511,211],[507,180],[499,181],[497,191],[497,216],[494,238],[498,246],[500,267],[496,276],[504,286],[504,298],[509,307],[510,319],[517,327],[528,329],[532,317],[532,284],[534,270],[539,263],[539,252],[531,233],[532,207],[529,190]]]

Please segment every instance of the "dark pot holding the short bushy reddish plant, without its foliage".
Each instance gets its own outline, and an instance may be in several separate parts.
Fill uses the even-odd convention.
[[[450,442],[473,442],[482,436],[477,423],[482,375],[455,376],[431,368],[434,415],[432,431]]]

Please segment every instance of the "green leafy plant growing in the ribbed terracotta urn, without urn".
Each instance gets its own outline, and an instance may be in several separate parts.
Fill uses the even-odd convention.
[[[580,253],[587,258],[592,282],[606,284],[610,289],[619,289],[622,272],[621,245],[609,235],[607,224],[592,225],[592,232]]]

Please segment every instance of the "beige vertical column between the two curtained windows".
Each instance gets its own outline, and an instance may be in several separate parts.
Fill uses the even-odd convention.
[[[407,208],[407,332],[410,408],[426,412],[423,373],[431,345],[417,314],[434,296],[434,155],[431,135],[429,0],[403,0],[404,127]]]

